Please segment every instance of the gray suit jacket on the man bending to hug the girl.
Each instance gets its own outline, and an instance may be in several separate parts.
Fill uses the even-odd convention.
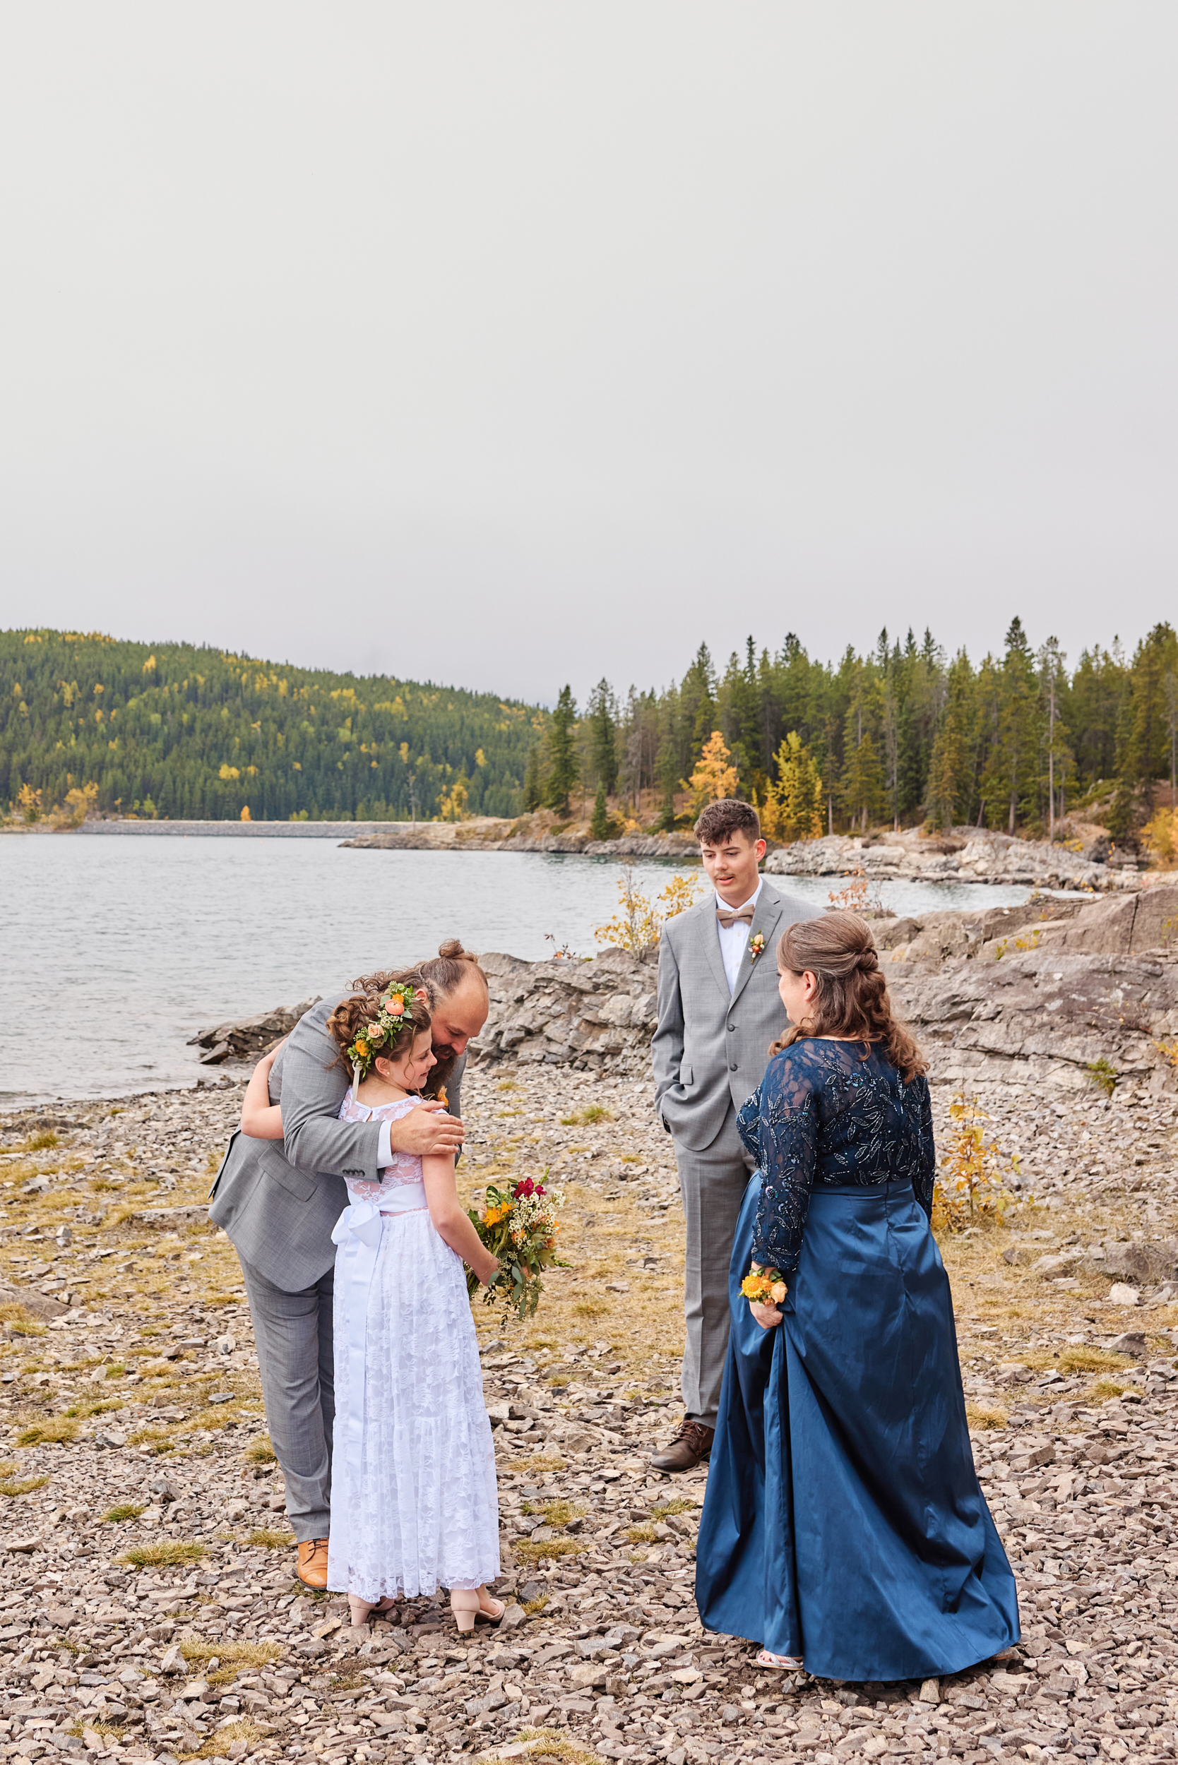
[[[332,1227],[348,1205],[344,1177],[380,1181],[378,1121],[339,1121],[348,1075],[327,1020],[348,994],[320,999],[295,1024],[270,1068],[270,1101],[283,1105],[283,1142],[235,1133],[212,1186],[208,1218],[244,1262],[288,1294],[313,1287],[336,1260]],[[447,1084],[461,1115],[466,1055]]]

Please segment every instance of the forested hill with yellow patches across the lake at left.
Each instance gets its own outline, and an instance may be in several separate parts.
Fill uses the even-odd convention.
[[[512,815],[539,706],[99,632],[0,632],[0,801],[254,821]]]

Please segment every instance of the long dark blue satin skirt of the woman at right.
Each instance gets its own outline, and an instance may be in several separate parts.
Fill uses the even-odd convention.
[[[696,1551],[703,1624],[842,1680],[933,1679],[1019,1640],[973,1468],[948,1276],[908,1183],[816,1188],[784,1318],[740,1294]]]

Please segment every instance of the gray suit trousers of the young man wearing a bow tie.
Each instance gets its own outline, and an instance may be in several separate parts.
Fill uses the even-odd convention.
[[[724,1126],[703,1153],[675,1142],[675,1163],[687,1221],[683,1410],[715,1428],[728,1354],[728,1264],[752,1170],[731,1103]]]

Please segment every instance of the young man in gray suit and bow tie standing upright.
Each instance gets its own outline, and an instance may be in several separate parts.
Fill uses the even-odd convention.
[[[652,1038],[655,1110],[675,1140],[687,1223],[683,1423],[655,1470],[691,1470],[712,1451],[728,1352],[728,1264],[749,1160],[736,1110],[765,1077],[786,1027],[777,939],[818,909],[768,888],[761,822],[751,803],[708,803],[696,822],[715,893],[662,928],[659,1024]]]

